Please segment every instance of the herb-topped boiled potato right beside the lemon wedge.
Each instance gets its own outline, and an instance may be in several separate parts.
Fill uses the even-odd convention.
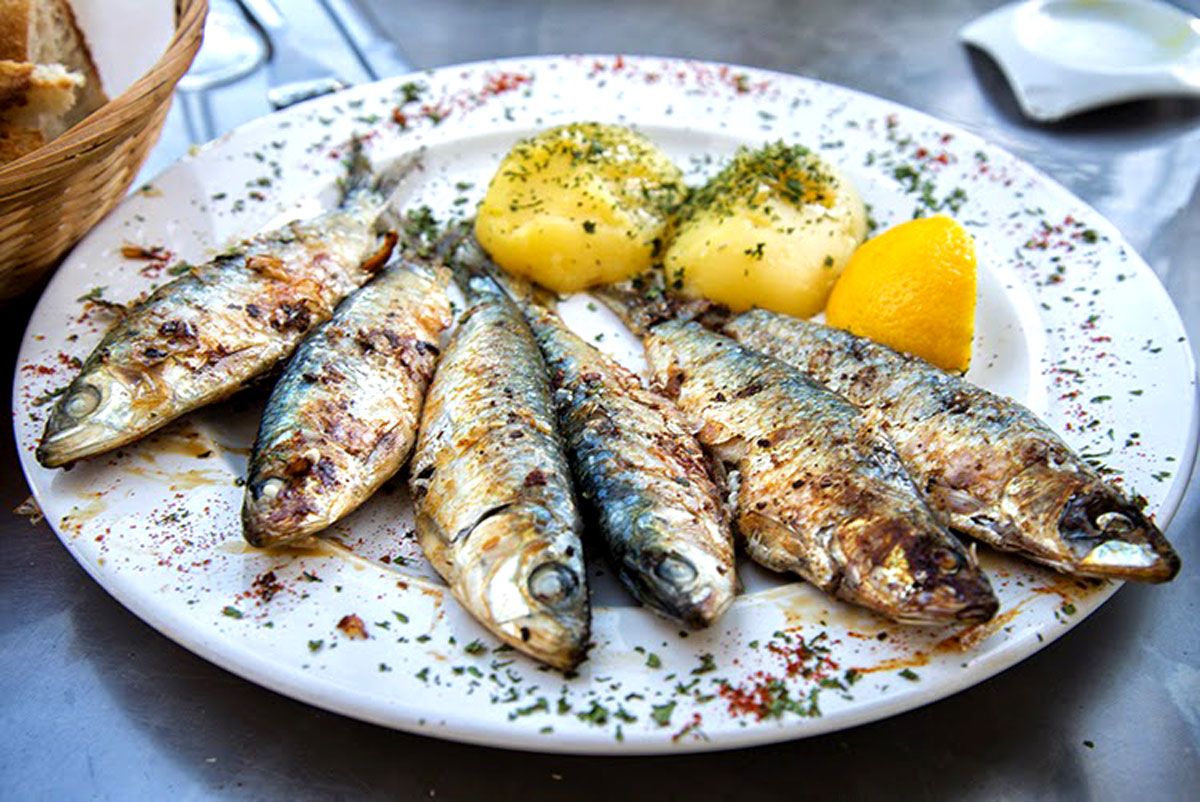
[[[686,295],[811,317],[865,237],[863,200],[828,162],[743,148],[682,208],[665,268]]]

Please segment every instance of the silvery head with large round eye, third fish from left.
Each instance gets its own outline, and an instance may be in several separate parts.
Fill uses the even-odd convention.
[[[571,522],[521,502],[482,517],[456,544],[455,595],[521,651],[559,669],[583,659],[589,603],[583,555],[569,544]]]

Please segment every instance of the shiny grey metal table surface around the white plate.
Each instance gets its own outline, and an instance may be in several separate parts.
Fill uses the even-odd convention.
[[[281,1],[301,41],[361,80],[317,0]],[[784,0],[368,0],[416,67],[606,52],[768,67],[892,98],[1028,160],[1109,217],[1200,337],[1200,102],[1024,119],[958,29],[998,5]],[[1200,12],[1196,2],[1193,13]],[[266,110],[222,90],[220,127]],[[148,163],[187,146],[173,110]],[[36,293],[8,304],[12,376]],[[8,391],[6,389],[6,397]],[[0,430],[0,798],[1195,798],[1200,791],[1200,487],[1169,528],[1184,569],[1127,586],[1075,630],[972,689],[875,724],[770,747],[638,759],[538,755],[389,731],[194,657],[91,581],[42,523]]]

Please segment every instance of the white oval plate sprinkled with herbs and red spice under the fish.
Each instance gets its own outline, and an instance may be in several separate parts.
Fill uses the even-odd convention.
[[[406,84],[418,96],[407,102]],[[1190,349],[1151,270],[1087,205],[968,133],[845,89],[713,64],[575,56],[448,67],[274,114],[185,158],[106,219],[41,299],[13,401],[25,473],[71,553],[163,634],[296,699],[446,738],[592,753],[727,748],[890,716],[1013,665],[1116,591],[984,549],[1002,609],[955,638],[743,564],[746,593],[714,629],[685,634],[632,606],[601,564],[595,647],[564,677],[498,648],[444,593],[412,537],[400,480],[334,527],[337,545],[246,546],[239,478],[260,400],[200,411],[70,471],[35,462],[46,394],[106,325],[77,299],[104,287],[124,301],[169,277],[161,262],[122,258],[122,244],[194,263],[312,213],[334,198],[355,131],[379,162],[425,146],[410,202],[469,214],[518,137],[580,119],[635,125],[691,180],[739,144],[784,138],[839,163],[881,226],[917,209],[952,211],[980,256],[971,378],[1044,414],[1144,492],[1159,522],[1170,519],[1196,442]],[[636,365],[636,343],[586,299],[566,316]],[[349,616],[366,639],[347,634]]]

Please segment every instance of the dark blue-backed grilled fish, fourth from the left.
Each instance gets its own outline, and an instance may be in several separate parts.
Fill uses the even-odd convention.
[[[708,627],[739,588],[714,466],[674,405],[557,315],[523,309],[550,367],[580,496],[620,580],[650,609]]]

